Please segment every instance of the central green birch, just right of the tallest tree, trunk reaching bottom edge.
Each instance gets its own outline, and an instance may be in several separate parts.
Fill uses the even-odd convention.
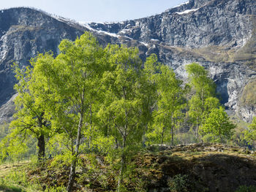
[[[141,147],[146,125],[151,120],[154,87],[142,69],[138,49],[108,45],[106,50],[110,71],[103,74],[105,94],[98,115],[107,128],[105,132],[116,140],[120,158],[118,191],[123,191],[126,164]]]

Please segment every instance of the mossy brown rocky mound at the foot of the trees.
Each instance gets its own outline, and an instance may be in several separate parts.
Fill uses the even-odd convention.
[[[80,159],[75,191],[116,191],[118,169],[110,166],[105,156],[80,155]],[[134,170],[125,179],[128,191],[234,192],[241,186],[256,185],[255,154],[240,147],[151,146],[132,162]],[[68,173],[65,166],[37,167],[27,172],[30,181],[42,188],[67,185]]]

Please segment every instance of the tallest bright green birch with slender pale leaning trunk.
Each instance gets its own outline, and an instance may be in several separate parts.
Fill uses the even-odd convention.
[[[34,59],[33,77],[42,85],[37,93],[42,93],[39,99],[45,104],[52,132],[67,137],[63,137],[61,145],[58,142],[55,145],[67,147],[67,153],[71,154],[67,156],[72,159],[68,184],[68,191],[72,191],[78,155],[90,147],[93,105],[99,99],[101,78],[108,70],[105,66],[108,62],[105,62],[105,50],[88,32],[75,42],[64,39],[59,50],[56,58],[41,54]]]

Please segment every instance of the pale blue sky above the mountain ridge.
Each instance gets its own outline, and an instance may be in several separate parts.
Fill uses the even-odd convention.
[[[77,21],[122,21],[161,13],[187,0],[3,0],[0,9],[36,7]]]

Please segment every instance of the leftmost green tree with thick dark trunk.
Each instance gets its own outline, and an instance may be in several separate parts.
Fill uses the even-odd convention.
[[[31,60],[31,64],[33,59]],[[12,158],[26,153],[28,145],[34,138],[39,147],[38,159],[45,158],[45,137],[48,137],[50,124],[45,117],[45,107],[39,99],[42,83],[34,80],[33,69],[27,66],[20,69],[17,64],[13,65],[15,77],[18,83],[15,90],[18,96],[15,98],[14,120],[10,123],[10,133],[1,141],[1,157],[4,153]]]

